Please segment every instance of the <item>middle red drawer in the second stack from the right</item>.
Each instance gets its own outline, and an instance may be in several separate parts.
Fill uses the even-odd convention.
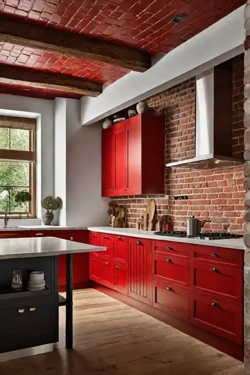
[[[153,254],[152,277],[167,283],[189,286],[188,260]]]

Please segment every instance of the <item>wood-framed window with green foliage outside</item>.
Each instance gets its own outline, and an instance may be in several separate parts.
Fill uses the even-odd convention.
[[[31,202],[16,202],[20,191],[28,191]],[[0,215],[5,212],[36,217],[36,120],[31,118],[0,116]]]

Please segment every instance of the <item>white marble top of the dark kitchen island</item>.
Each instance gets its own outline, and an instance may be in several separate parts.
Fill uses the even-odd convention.
[[[67,241],[56,237],[0,239],[0,259],[91,253],[105,251],[106,249],[106,247]]]

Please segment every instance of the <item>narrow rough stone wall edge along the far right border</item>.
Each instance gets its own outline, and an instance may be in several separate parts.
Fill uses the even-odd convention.
[[[244,346],[245,346],[245,373],[250,374],[250,0],[247,0],[244,10],[244,28],[245,28],[245,54],[244,54],[244,187],[246,189],[244,203],[246,209],[244,211],[244,243],[245,243],[245,254],[244,254]]]

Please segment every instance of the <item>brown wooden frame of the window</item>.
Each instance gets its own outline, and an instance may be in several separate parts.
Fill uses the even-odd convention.
[[[29,191],[32,200],[29,203],[29,218],[36,218],[36,120],[33,118],[0,115],[0,128],[29,130],[29,151],[0,148],[0,161],[29,162]],[[22,213],[24,215],[24,213]],[[0,215],[0,218],[3,215]],[[19,213],[11,213],[10,219],[19,218]]]

